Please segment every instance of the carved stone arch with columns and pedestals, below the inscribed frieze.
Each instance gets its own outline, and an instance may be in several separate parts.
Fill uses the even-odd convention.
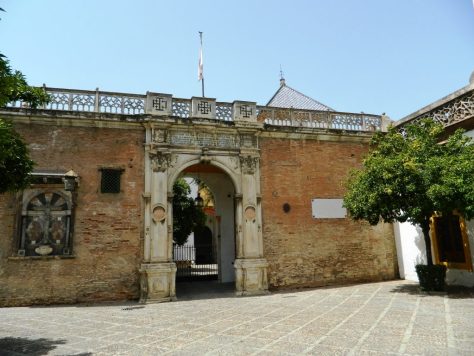
[[[233,234],[236,246],[233,268],[236,294],[266,293],[268,263],[263,255],[258,151],[231,150],[213,154],[206,148],[197,150],[196,147],[187,147],[174,150],[167,147],[163,152],[172,164],[153,165],[153,155],[147,156],[145,161],[145,238],[144,260],[140,268],[140,300],[161,302],[176,298],[173,184],[184,170],[198,164],[210,164],[221,169],[234,188]],[[248,208],[249,206],[251,208]],[[248,209],[245,211],[245,208]]]

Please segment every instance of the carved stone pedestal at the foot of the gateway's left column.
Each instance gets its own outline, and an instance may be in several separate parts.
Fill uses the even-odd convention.
[[[143,263],[140,266],[140,303],[176,300],[176,264]]]

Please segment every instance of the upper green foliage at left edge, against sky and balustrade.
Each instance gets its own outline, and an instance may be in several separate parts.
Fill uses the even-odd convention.
[[[16,100],[36,108],[47,103],[49,95],[41,88],[29,86],[25,76],[18,70],[12,70],[8,60],[0,54],[0,107]]]

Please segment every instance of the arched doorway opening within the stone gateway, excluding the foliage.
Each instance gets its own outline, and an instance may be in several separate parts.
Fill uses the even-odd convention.
[[[204,224],[195,226],[185,243],[173,243],[178,298],[182,291],[193,289],[189,282],[214,281],[213,286],[208,285],[209,290],[221,290],[216,283],[235,282],[234,184],[224,171],[211,164],[187,167],[178,179],[188,182],[189,198],[204,215]],[[175,222],[180,209],[174,210]],[[198,283],[194,285],[198,287]],[[200,283],[199,288],[202,286]]]

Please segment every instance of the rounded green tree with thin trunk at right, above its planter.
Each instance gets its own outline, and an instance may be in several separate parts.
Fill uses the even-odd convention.
[[[344,206],[355,220],[405,222],[422,227],[430,246],[429,219],[435,213],[457,210],[474,217],[474,145],[456,131],[440,143],[443,126],[422,120],[405,126],[404,134],[391,127],[372,140],[363,168],[350,173]],[[432,264],[431,249],[427,249]]]

